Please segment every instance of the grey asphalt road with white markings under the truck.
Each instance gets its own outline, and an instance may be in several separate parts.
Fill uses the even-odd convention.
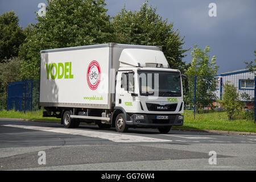
[[[0,170],[15,169],[255,170],[256,136],[160,134],[155,129],[123,134],[97,126],[65,129],[60,123],[0,118]]]

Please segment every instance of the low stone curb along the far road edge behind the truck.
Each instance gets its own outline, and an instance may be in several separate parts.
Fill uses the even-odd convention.
[[[19,118],[3,118],[3,119],[16,119],[18,121],[29,121],[29,122],[41,122],[41,123],[58,123],[55,121],[43,121],[43,120],[34,120],[34,119],[19,119]],[[81,123],[83,125],[83,123]],[[90,125],[85,123],[84,125]],[[94,125],[94,124],[92,124]],[[256,136],[256,133],[243,132],[243,131],[221,131],[221,130],[200,130],[200,129],[183,129],[183,128],[172,128],[172,130],[177,131],[192,131],[199,133],[216,133],[216,134],[232,134],[232,135],[253,135]]]

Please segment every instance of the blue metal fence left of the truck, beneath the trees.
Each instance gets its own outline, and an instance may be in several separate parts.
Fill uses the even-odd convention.
[[[39,81],[16,81],[8,85],[7,110],[32,111],[39,100]]]

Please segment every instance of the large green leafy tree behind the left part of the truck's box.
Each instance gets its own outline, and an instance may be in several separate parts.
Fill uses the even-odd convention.
[[[107,43],[112,40],[104,0],[49,1],[46,16],[27,31],[20,48],[22,77],[39,78],[40,50]]]

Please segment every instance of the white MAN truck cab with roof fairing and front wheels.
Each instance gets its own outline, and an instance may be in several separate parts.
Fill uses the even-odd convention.
[[[138,55],[138,57],[137,57]],[[158,128],[168,133],[183,125],[181,73],[170,69],[162,51],[123,49],[115,78],[115,128]],[[125,113],[125,114],[124,114]]]

